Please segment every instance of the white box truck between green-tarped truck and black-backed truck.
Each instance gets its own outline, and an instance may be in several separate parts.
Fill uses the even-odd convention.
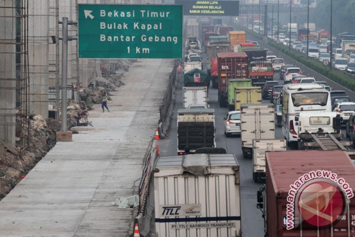
[[[192,86],[182,87],[182,99],[184,100],[184,109],[189,108],[193,104],[205,105],[208,107],[207,87]]]

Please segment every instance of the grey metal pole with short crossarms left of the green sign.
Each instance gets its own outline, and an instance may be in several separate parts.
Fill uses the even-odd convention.
[[[68,21],[68,17],[63,17],[62,21],[62,125],[61,131],[67,130],[67,76],[68,76],[68,41],[77,39],[68,36],[68,25],[77,25],[76,22]],[[57,108],[58,109],[58,108]]]

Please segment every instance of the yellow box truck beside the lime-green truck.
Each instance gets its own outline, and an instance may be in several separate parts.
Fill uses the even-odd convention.
[[[240,110],[241,104],[261,104],[261,87],[234,88],[234,110]]]

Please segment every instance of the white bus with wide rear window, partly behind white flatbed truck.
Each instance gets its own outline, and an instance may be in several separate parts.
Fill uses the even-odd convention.
[[[296,146],[298,122],[295,116],[301,111],[331,112],[331,97],[321,85],[288,84],[282,90],[282,133],[289,146]]]

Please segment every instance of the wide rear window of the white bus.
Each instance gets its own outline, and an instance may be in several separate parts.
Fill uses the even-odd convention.
[[[303,92],[293,93],[291,95],[293,105],[299,107],[301,105],[319,104],[321,106],[327,105],[328,93],[325,92]]]

